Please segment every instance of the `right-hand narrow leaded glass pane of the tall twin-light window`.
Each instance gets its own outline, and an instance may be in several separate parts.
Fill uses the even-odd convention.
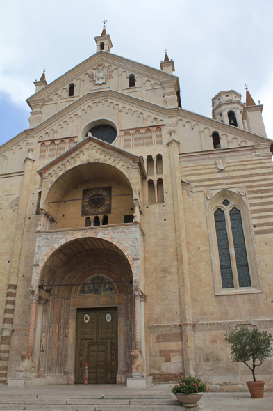
[[[245,236],[244,229],[242,228],[242,217],[240,210],[233,207],[229,212],[229,217],[231,219],[231,231],[233,235],[239,287],[251,287],[247,250],[245,248]]]

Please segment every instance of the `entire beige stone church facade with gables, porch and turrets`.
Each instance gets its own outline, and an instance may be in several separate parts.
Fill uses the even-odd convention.
[[[263,105],[229,90],[192,113],[167,54],[158,70],[95,42],[43,73],[0,148],[0,382],[243,384],[224,332],[273,331]]]

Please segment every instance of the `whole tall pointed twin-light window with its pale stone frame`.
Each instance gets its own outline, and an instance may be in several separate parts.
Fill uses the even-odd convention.
[[[215,295],[260,293],[246,194],[224,189],[206,201]]]

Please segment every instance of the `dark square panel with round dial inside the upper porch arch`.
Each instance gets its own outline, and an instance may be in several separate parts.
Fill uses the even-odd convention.
[[[111,212],[111,188],[83,189],[81,215],[109,214]]]

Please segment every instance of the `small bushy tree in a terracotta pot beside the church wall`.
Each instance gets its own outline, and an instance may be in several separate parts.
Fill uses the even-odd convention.
[[[247,381],[251,397],[263,398],[265,382],[256,381],[255,369],[271,356],[272,335],[267,331],[259,331],[257,327],[240,327],[231,329],[224,336],[231,346],[231,361],[244,363],[252,372],[253,381]]]

